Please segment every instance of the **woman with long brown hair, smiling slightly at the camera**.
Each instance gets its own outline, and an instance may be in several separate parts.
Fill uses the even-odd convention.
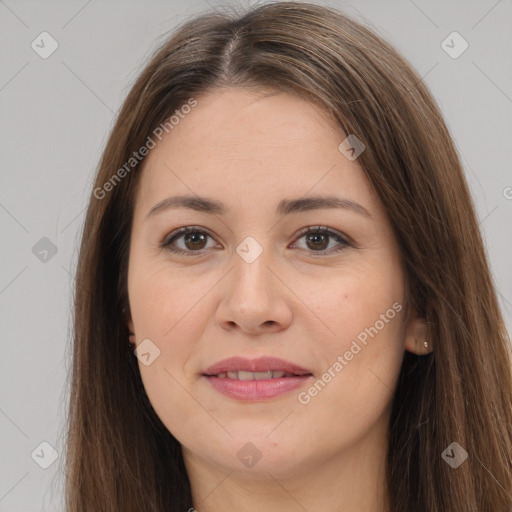
[[[403,57],[306,3],[197,17],[91,193],[68,510],[510,511],[509,342]]]

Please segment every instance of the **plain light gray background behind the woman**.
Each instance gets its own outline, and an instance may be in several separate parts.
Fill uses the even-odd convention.
[[[511,1],[319,3],[388,39],[434,93],[467,174],[510,332]],[[0,0],[0,512],[64,510],[72,275],[92,177],[145,60],[178,23],[219,5]],[[49,48],[43,31],[59,45],[46,59],[31,47],[35,40]],[[453,31],[469,44],[456,59],[441,46]],[[43,237],[56,254],[44,253]],[[48,469],[40,467],[51,461],[42,442],[59,454]]]

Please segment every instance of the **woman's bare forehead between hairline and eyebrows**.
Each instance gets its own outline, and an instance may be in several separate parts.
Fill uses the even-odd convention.
[[[196,100],[146,157],[137,199],[145,210],[171,194],[254,208],[308,191],[339,192],[371,209],[363,169],[338,149],[346,134],[310,102],[237,88]]]

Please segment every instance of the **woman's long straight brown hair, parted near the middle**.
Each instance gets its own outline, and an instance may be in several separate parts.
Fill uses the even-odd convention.
[[[404,355],[389,425],[391,512],[510,512],[510,339],[450,134],[421,77],[386,41],[338,11],[297,2],[188,21],[119,112],[76,273],[67,511],[192,507],[181,447],[149,403],[123,314],[144,160],[113,175],[176,109],[219,86],[299,94],[366,146],[358,162],[387,211],[410,304],[434,345],[428,356]],[[443,457],[453,442],[468,453],[457,468]]]

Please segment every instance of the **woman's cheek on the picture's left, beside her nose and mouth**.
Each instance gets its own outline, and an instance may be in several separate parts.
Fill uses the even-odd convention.
[[[171,274],[168,268],[154,265],[149,271],[134,272],[129,284],[137,343],[150,339],[159,350],[150,365],[138,362],[144,389],[161,421],[180,442],[188,440],[189,430],[201,435],[201,428],[191,429],[190,418],[198,425],[199,419],[204,422],[189,391],[195,369],[187,364],[209,318],[208,303],[201,297],[210,287],[189,273]]]

